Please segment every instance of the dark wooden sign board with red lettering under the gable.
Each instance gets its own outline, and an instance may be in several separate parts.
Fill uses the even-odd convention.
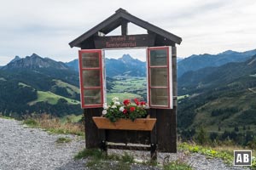
[[[154,46],[154,35],[95,37],[95,47],[100,48],[135,48]]]

